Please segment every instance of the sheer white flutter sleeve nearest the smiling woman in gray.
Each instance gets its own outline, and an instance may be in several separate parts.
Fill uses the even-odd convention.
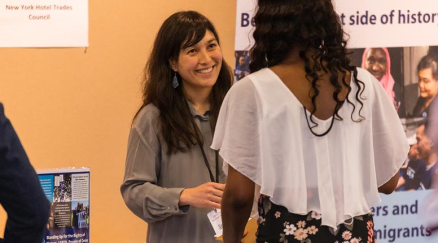
[[[256,87],[251,79],[242,79],[222,103],[211,146],[219,150],[225,174],[231,165],[258,185],[261,185],[261,116]]]

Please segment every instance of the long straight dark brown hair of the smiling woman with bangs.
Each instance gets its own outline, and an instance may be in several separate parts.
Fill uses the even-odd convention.
[[[195,125],[184,98],[182,90],[184,83],[178,73],[180,86],[172,87],[175,72],[170,68],[169,60],[177,61],[180,50],[201,41],[207,30],[213,33],[219,43],[215,27],[200,13],[184,11],[171,15],[158,31],[146,63],[143,104],[139,111],[147,104],[154,104],[160,110],[158,124],[161,135],[167,143],[167,154],[185,151],[197,142],[203,142],[201,131]],[[209,98],[210,124],[213,128],[219,115],[220,105],[231,87],[232,80],[231,69],[225,60],[222,60],[218,80]]]

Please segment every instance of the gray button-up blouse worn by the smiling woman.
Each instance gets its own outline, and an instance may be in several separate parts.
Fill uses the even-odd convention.
[[[208,112],[204,115],[189,104],[200,127],[212,173],[216,174],[215,152],[210,148],[212,132]],[[158,132],[160,111],[153,104],[138,113],[129,133],[125,177],[121,186],[128,208],[148,223],[147,243],[216,243],[207,213],[213,208],[179,207],[180,194],[210,181],[199,146],[168,155]],[[219,157],[219,182],[225,182]]]

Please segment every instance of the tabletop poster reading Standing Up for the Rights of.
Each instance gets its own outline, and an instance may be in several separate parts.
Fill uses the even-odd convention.
[[[41,171],[38,177],[50,202],[42,243],[89,243],[90,170]]]

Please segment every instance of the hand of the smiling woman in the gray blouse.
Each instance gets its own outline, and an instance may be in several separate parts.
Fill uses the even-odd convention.
[[[220,208],[225,184],[207,182],[181,192],[179,206],[190,205],[196,208]]]

